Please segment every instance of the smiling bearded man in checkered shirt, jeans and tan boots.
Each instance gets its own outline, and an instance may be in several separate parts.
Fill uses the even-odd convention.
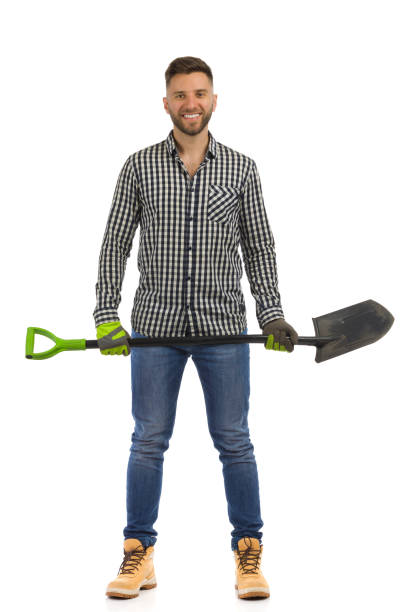
[[[103,354],[129,354],[129,334],[117,309],[133,237],[140,224],[139,287],[133,337],[246,334],[242,263],[256,301],[267,348],[293,351],[278,292],[274,240],[256,165],[208,130],[216,108],[209,66],[177,58],[166,70],[164,108],[173,122],[166,140],[131,155],[120,173],[99,259],[97,337]],[[203,387],[209,431],[223,464],[234,530],[240,598],[269,597],[260,570],[259,484],[249,438],[249,345],[177,345],[131,350],[135,429],[127,471],[124,559],[110,597],[137,597],[156,586],[153,548],[162,486],[163,453],[191,356]]]

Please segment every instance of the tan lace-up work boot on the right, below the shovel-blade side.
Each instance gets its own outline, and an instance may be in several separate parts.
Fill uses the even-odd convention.
[[[262,549],[257,538],[245,537],[234,550],[235,588],[240,599],[269,597],[269,585],[260,569]]]

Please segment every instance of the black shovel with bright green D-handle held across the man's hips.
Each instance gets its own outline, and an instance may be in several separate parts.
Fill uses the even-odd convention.
[[[316,336],[299,336],[296,344],[315,346],[317,363],[339,357],[344,353],[376,342],[384,336],[394,322],[394,317],[384,306],[374,300],[366,300],[342,310],[313,318]],[[34,353],[35,335],[46,336],[55,342],[48,351]],[[130,347],[171,346],[174,344],[241,344],[262,343],[266,345],[268,336],[229,335],[229,336],[181,336],[166,338],[130,338]],[[48,359],[61,351],[77,351],[99,348],[97,340],[63,340],[50,331],[40,327],[28,327],[26,338],[27,359]]]

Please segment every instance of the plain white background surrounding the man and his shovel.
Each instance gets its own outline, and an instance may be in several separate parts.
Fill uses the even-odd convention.
[[[2,608],[406,612],[406,3],[16,1],[0,27]],[[215,138],[257,163],[288,322],[313,335],[312,316],[369,298],[395,316],[377,344],[322,364],[310,347],[250,345],[271,588],[258,602],[236,598],[192,361],[165,455],[158,588],[125,602],[105,587],[122,561],[130,359],[24,358],[28,326],[95,337],[116,180],[172,128],[164,72],[184,55],[213,70]],[[248,333],[261,333],[242,287]]]

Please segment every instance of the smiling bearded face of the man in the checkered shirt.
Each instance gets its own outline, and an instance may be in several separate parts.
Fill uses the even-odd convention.
[[[163,98],[164,108],[173,124],[184,134],[199,134],[211,119],[217,105],[208,76],[204,72],[175,74]],[[197,115],[192,118],[185,115]]]

